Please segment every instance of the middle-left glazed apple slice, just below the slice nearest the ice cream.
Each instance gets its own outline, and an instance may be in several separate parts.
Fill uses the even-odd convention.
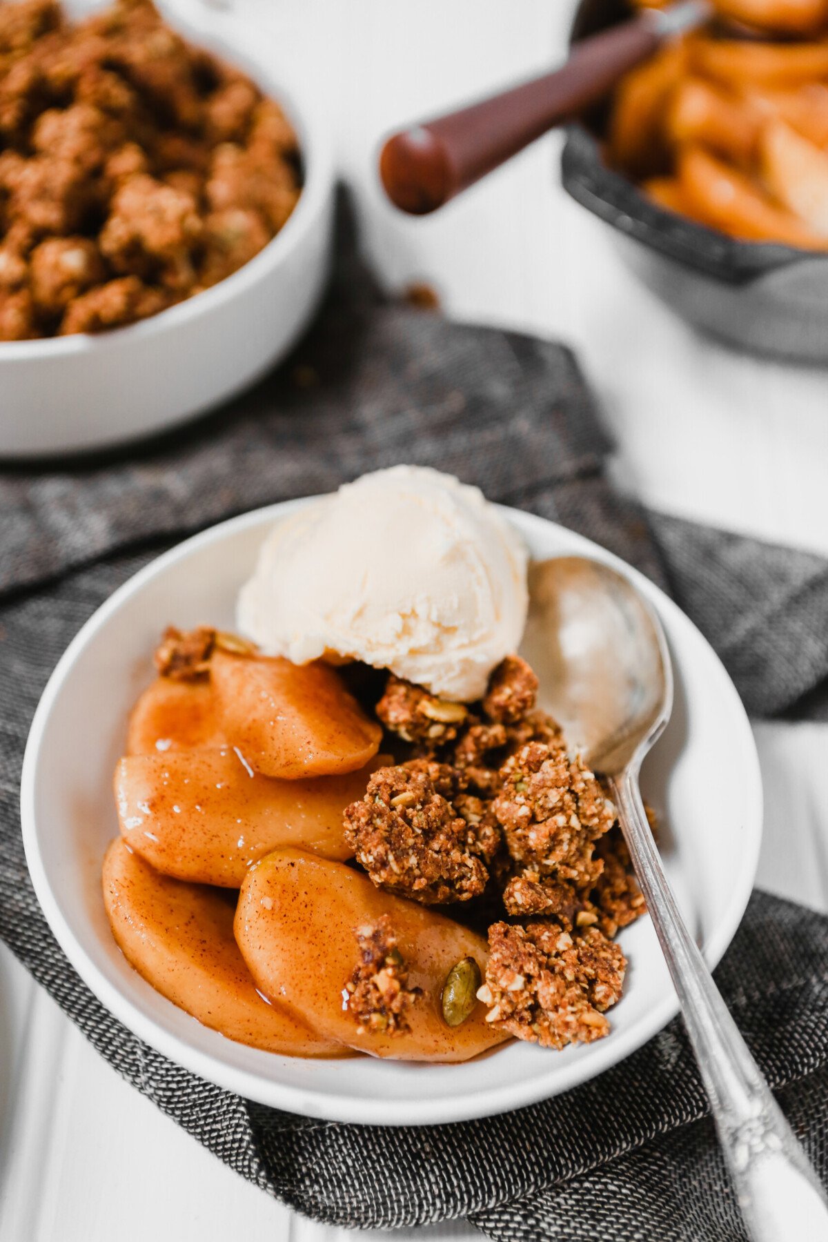
[[[350,858],[343,812],[372,771],[276,780],[223,750],[130,755],[115,768],[120,833],[132,850],[176,879],[240,888],[251,863],[281,846]]]

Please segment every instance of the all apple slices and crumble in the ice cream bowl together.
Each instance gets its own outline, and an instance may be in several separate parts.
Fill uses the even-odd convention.
[[[228,1038],[464,1061],[592,1042],[644,913],[600,776],[518,656],[474,703],[169,628],[119,760],[104,904],[129,963]]]

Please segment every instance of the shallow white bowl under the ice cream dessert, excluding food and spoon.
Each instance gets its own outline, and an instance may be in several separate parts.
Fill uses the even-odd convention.
[[[575,1087],[641,1047],[677,1012],[649,919],[621,935],[631,965],[606,1040],[564,1052],[515,1042],[461,1066],[305,1061],[233,1043],[164,1000],[112,938],[101,895],[101,862],[118,832],[112,773],[159,631],[168,622],[232,626],[236,592],[264,534],[302,503],[225,522],[160,556],[114,592],[62,657],[32,723],[21,794],[26,857],[46,918],[78,974],[135,1035],[263,1104],[402,1125],[483,1117]],[[714,965],[747,903],[761,836],[758,761],[736,691],[699,631],[649,581],[561,527],[504,513],[534,556],[586,554],[614,565],[662,617],[677,702],[643,786],[664,820],[664,861],[679,903]]]

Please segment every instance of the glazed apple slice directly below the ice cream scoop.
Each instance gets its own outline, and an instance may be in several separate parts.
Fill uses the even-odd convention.
[[[380,725],[326,664],[216,651],[210,669],[227,740],[266,776],[350,773],[379,750]]]

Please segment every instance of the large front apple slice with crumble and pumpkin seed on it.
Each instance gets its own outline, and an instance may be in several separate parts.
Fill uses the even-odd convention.
[[[343,1009],[343,989],[360,959],[356,930],[387,914],[408,970],[422,990],[407,1012],[410,1030],[360,1033]],[[443,984],[457,963],[474,958],[485,975],[485,940],[425,905],[375,888],[340,862],[279,850],[257,863],[242,884],[236,940],[257,987],[303,1015],[329,1038],[377,1057],[467,1061],[505,1038],[474,1001],[470,1015],[449,1027]]]

